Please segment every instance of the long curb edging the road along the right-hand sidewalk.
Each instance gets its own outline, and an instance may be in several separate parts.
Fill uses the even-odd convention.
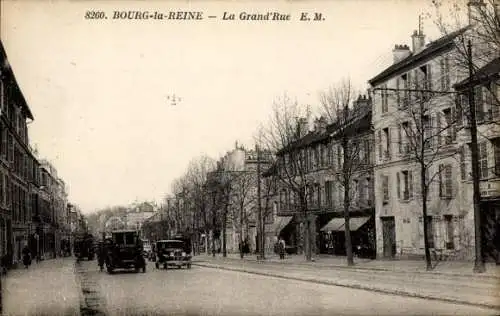
[[[470,302],[470,301],[461,300],[461,299],[452,299],[452,298],[445,298],[445,297],[435,297],[435,296],[418,294],[418,293],[413,293],[413,292],[408,292],[408,291],[386,290],[386,289],[380,289],[380,288],[376,288],[376,287],[370,287],[367,285],[343,284],[343,283],[339,283],[339,282],[335,282],[335,281],[326,281],[326,280],[317,280],[317,279],[306,278],[306,277],[302,278],[302,277],[295,277],[295,276],[278,275],[278,274],[275,274],[272,272],[260,272],[260,271],[255,271],[255,270],[242,269],[242,268],[225,267],[225,266],[215,265],[215,264],[210,264],[210,263],[199,263],[199,262],[195,263],[195,262],[193,262],[193,265],[197,265],[197,266],[205,267],[205,268],[211,268],[211,269],[220,269],[220,270],[243,272],[243,273],[254,274],[254,275],[262,275],[262,276],[268,276],[268,277],[274,277],[274,278],[280,278],[280,279],[286,279],[286,280],[303,281],[303,282],[310,282],[310,283],[323,284],[323,285],[334,285],[334,286],[341,286],[341,287],[353,288],[353,289],[358,289],[358,290],[377,292],[377,293],[382,293],[382,294],[413,297],[413,298],[422,298],[422,299],[433,300],[433,301],[462,304],[462,305],[470,305],[470,306],[500,310],[500,305],[488,304],[488,303],[476,303],[476,302]]]

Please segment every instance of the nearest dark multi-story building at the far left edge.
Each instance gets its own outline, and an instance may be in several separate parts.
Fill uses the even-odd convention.
[[[17,263],[31,222],[28,161],[32,155],[27,120],[32,121],[33,114],[1,43],[0,65],[0,252],[9,256],[10,263]]]

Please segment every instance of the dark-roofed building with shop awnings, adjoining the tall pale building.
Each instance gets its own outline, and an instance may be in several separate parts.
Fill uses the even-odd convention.
[[[371,131],[371,100],[359,96],[349,111],[351,127],[340,128],[339,121],[328,124],[325,118],[315,121],[312,131],[304,121],[296,141],[278,152],[278,161],[287,166],[295,165],[297,177],[303,174],[306,196],[306,210],[301,209],[297,188],[287,185],[288,181],[280,181],[273,208],[277,209],[275,221],[276,236],[284,238],[289,251],[302,252],[305,248],[305,217],[311,225],[313,253],[345,254],[344,243],[344,190],[342,186],[342,134],[349,140],[349,146],[359,157],[353,158],[356,166],[346,174],[350,183],[350,230],[353,245],[373,249],[374,246],[374,197],[373,197],[373,134]],[[356,114],[356,116],[354,116]],[[352,121],[351,121],[352,118]],[[341,124],[343,125],[343,124]],[[300,163],[292,163],[289,159],[301,159]],[[293,168],[292,168],[293,169]],[[267,177],[280,176],[285,172],[275,168]]]

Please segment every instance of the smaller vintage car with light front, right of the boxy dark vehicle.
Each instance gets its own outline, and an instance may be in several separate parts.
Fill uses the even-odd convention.
[[[181,239],[159,240],[156,242],[156,268],[191,268],[191,246]]]

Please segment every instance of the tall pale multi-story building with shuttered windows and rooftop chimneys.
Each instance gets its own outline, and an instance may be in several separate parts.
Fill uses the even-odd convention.
[[[469,18],[483,5],[470,1]],[[429,247],[457,258],[473,256],[472,190],[463,168],[468,155],[460,144],[460,135],[467,133],[462,124],[466,113],[453,85],[468,73],[458,43],[475,27],[471,23],[428,44],[421,29],[414,31],[412,48],[396,45],[393,64],[369,80],[374,88],[380,257],[423,255],[425,195]],[[481,43],[478,46],[478,50],[484,48]]]

